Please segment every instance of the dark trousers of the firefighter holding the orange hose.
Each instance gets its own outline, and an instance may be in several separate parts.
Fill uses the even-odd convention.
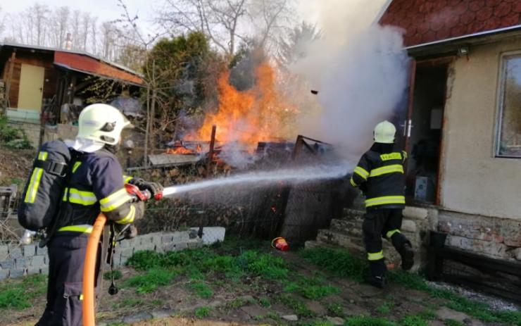
[[[58,235],[48,244],[47,303],[35,326],[81,326],[83,265],[88,234]],[[98,267],[99,271],[99,259]],[[96,277],[97,279],[97,277]]]

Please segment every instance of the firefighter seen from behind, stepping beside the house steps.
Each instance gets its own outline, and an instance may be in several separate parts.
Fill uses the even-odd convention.
[[[414,265],[412,246],[400,232],[406,203],[403,163],[407,153],[396,149],[395,134],[396,127],[389,121],[378,123],[375,143],[360,158],[351,177],[351,185],[365,194],[363,239],[370,266],[368,282],[376,287],[384,287],[387,272],[382,237],[400,253],[403,270],[410,270]]]

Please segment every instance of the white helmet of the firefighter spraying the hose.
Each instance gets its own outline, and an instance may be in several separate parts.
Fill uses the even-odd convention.
[[[108,104],[91,104],[80,113],[77,137],[115,145],[127,125],[130,122],[117,108]]]

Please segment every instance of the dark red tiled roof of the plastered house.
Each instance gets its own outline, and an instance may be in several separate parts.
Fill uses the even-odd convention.
[[[393,0],[381,25],[406,30],[406,46],[521,25],[520,0]]]

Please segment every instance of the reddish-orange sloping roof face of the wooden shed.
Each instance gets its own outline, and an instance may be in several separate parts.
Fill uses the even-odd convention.
[[[90,56],[82,54],[72,54],[69,52],[55,51],[54,63],[64,65],[73,70],[80,70],[85,73],[92,73],[93,75],[101,75],[116,80],[123,80],[124,82],[131,82],[134,84],[143,84],[143,80],[138,75],[129,73],[123,69],[117,68],[106,62],[96,60]]]

